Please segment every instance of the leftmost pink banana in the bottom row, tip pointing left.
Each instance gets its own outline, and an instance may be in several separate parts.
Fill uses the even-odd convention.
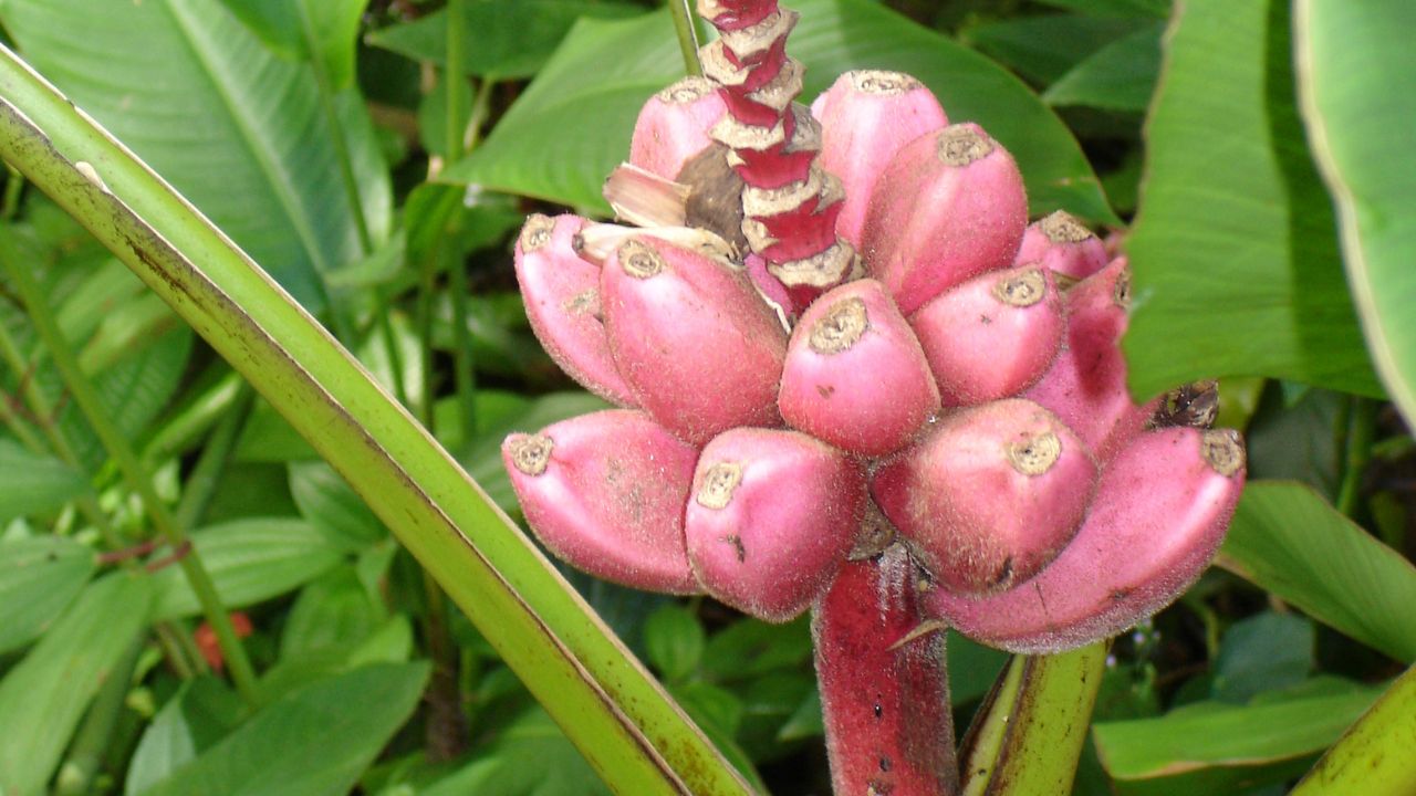
[[[639,589],[698,591],[683,520],[694,446],[643,412],[607,409],[514,433],[501,459],[527,523],[558,557]]]

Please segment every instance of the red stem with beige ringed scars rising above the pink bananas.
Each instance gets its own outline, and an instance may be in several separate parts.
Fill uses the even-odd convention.
[[[817,164],[821,126],[796,103],[801,64],[786,54],[797,14],[777,0],[698,0],[721,38],[701,51],[728,112],[712,129],[745,183],[742,231],[767,271],[814,297],[850,275],[855,252],[835,235],[841,181]]]

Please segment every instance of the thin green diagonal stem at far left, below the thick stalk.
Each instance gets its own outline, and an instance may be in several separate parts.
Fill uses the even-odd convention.
[[[93,433],[96,433],[99,440],[103,443],[109,457],[112,457],[118,463],[119,470],[123,472],[123,477],[127,482],[129,489],[142,497],[147,517],[153,521],[153,527],[167,541],[167,544],[173,547],[173,550],[180,551],[183,545],[187,544],[187,534],[180,525],[177,525],[171,514],[167,511],[167,506],[157,496],[157,490],[153,487],[153,480],[149,476],[147,469],[137,459],[137,453],[133,452],[132,445],[129,445],[127,439],[123,438],[123,433],[108,416],[103,401],[99,398],[93,384],[86,375],[84,375],[84,370],[79,367],[78,356],[74,353],[68,340],[64,339],[64,333],[59,330],[59,324],[55,320],[54,313],[50,312],[50,305],[48,300],[45,300],[44,290],[40,289],[40,283],[34,280],[34,276],[20,261],[21,258],[14,251],[13,241],[6,235],[0,235],[0,266],[8,269],[10,279],[14,282],[16,289],[20,292],[20,297],[28,309],[30,322],[34,323],[35,331],[40,334],[44,346],[50,350],[50,357],[52,357],[54,365],[64,377],[64,384],[68,388],[69,395],[74,397],[74,402],[78,404],[79,411],[84,412],[84,416],[93,428]],[[251,705],[258,704],[259,691],[256,690],[255,670],[251,667],[251,660],[246,657],[246,653],[241,646],[241,640],[236,637],[235,627],[231,626],[231,618],[221,605],[221,598],[217,595],[217,585],[211,581],[211,575],[201,564],[201,557],[197,554],[195,548],[188,550],[185,555],[181,555],[178,565],[181,567],[183,575],[185,575],[193,593],[197,595],[197,601],[201,603],[207,622],[211,623],[211,629],[217,635],[217,643],[221,646],[221,654],[227,659],[227,663],[231,667],[231,678],[236,684],[236,690]]]

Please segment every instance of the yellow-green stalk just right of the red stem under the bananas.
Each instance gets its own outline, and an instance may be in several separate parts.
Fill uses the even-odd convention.
[[[1012,657],[960,749],[961,796],[1046,796],[1070,788],[1109,646]]]

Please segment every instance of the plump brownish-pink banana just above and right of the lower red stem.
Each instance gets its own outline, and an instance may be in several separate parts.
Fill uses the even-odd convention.
[[[1076,533],[1096,463],[1031,401],[943,418],[881,466],[871,493],[947,592],[1004,591],[1048,565]]]

